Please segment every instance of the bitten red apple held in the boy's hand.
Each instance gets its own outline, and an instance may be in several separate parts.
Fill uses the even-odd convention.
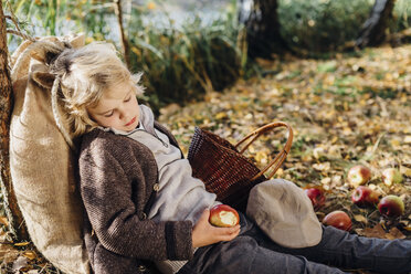
[[[230,205],[217,204],[210,209],[209,222],[214,226],[231,228],[240,222],[240,217]]]

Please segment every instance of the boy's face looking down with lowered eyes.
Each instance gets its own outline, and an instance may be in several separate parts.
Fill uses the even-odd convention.
[[[87,112],[103,127],[131,131],[137,127],[140,116],[135,91],[136,86],[131,82],[110,86],[103,93],[98,104],[88,107]]]

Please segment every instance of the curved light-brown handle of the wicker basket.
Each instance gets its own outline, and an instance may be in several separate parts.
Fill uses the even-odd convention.
[[[251,140],[249,140],[249,143],[246,143],[246,145],[244,145],[243,149],[240,150],[240,154],[243,154],[245,151],[245,149],[247,149],[247,147],[252,143],[254,143],[254,140],[256,138],[259,138],[261,135],[263,135],[267,131],[271,131],[271,130],[273,130],[274,128],[277,128],[277,127],[286,127],[288,129],[288,139],[285,143],[283,149],[275,156],[275,158],[265,168],[263,168],[256,176],[254,176],[251,179],[252,181],[257,179],[259,177],[263,176],[264,172],[267,171],[273,166],[274,166],[273,171],[271,171],[271,173],[267,176],[267,179],[272,178],[275,175],[275,172],[278,170],[280,166],[284,162],[285,158],[287,157],[287,155],[291,150],[291,147],[292,147],[292,144],[293,144],[293,129],[289,125],[287,125],[284,122],[273,122],[273,123],[270,123],[265,126],[262,126],[262,127],[255,129],[254,131],[252,131],[251,134],[245,136],[242,140],[240,140],[235,145],[235,148],[239,148],[239,146],[242,145],[245,140],[252,138]]]

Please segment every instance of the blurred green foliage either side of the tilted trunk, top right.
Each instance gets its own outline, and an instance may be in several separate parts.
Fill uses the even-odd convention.
[[[337,51],[357,38],[375,0],[278,0],[281,33],[288,45],[312,53]],[[391,32],[411,25],[411,2],[397,0]]]

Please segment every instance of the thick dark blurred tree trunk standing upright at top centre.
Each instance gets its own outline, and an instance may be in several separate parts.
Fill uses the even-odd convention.
[[[244,15],[243,9],[240,11],[240,21],[247,31],[250,57],[271,59],[273,53],[289,50],[280,33],[277,7],[276,0],[253,0],[250,14]]]

